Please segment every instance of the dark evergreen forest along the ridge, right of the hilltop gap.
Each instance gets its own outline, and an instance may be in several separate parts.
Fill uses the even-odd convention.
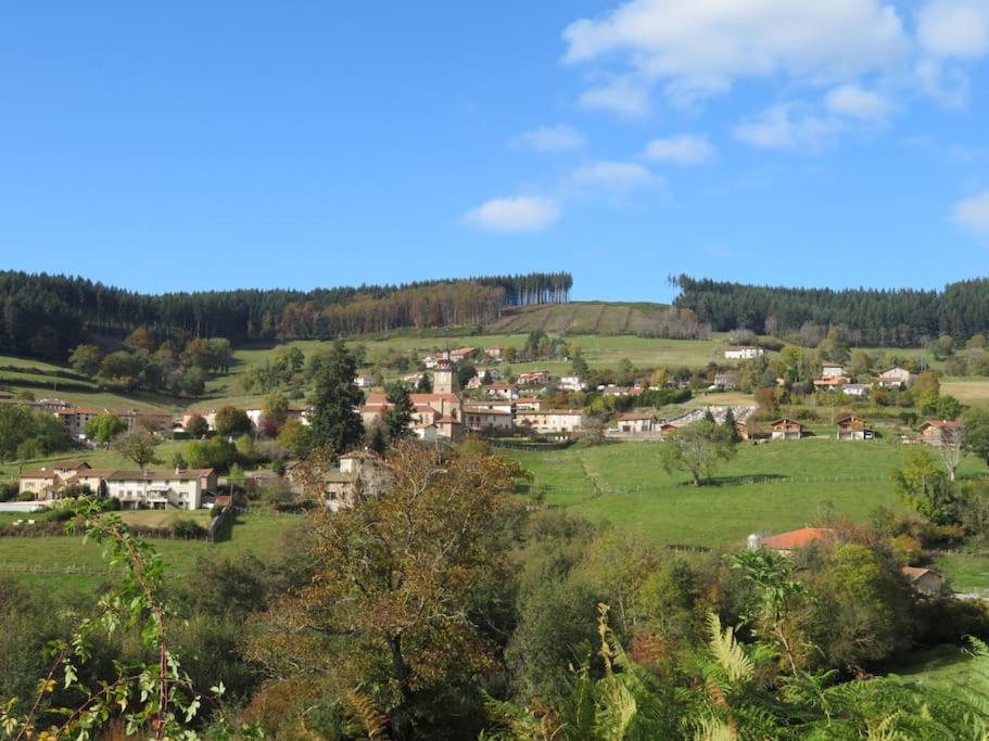
[[[943,291],[795,289],[681,276],[675,304],[715,331],[798,332],[811,323],[842,325],[864,345],[909,347],[939,334],[971,337],[989,329],[989,279],[949,283]]]

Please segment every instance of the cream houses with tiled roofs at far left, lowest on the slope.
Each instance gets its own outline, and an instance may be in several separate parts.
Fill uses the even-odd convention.
[[[185,509],[203,504],[206,494],[216,491],[213,469],[164,471],[124,471],[94,469],[86,461],[55,462],[36,471],[21,473],[21,494],[37,501],[60,498],[71,486],[121,502],[122,509]]]

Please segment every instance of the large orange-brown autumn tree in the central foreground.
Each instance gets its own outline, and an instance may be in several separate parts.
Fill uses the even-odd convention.
[[[332,456],[316,451],[301,476],[318,481]],[[443,457],[408,440],[386,467],[384,494],[316,516],[317,575],[255,622],[249,655],[280,681],[332,683],[355,716],[372,704],[390,738],[453,738],[431,718],[443,703],[448,720],[448,703],[477,697],[468,677],[496,664],[480,596],[510,580],[506,495],[523,473],[483,449]]]

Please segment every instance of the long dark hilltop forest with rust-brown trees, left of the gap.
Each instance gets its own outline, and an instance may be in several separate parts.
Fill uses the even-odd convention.
[[[148,295],[77,277],[0,271],[0,353],[61,359],[88,334],[123,337],[138,327],[238,343],[479,323],[505,305],[568,301],[572,284],[557,272]]]

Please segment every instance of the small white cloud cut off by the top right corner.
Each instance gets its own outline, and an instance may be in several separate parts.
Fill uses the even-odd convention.
[[[989,52],[989,2],[928,2],[917,13],[917,41],[936,56],[982,56]]]

